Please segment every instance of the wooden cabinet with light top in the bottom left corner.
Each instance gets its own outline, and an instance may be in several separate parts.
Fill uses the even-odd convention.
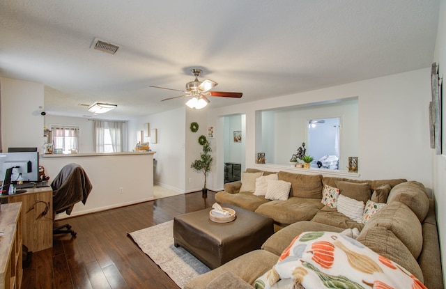
[[[0,208],[0,289],[22,286],[22,205],[3,204]]]

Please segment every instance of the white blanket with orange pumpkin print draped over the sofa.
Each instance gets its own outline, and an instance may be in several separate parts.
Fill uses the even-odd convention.
[[[426,288],[403,267],[360,242],[333,232],[295,237],[277,264],[254,284],[269,288]]]

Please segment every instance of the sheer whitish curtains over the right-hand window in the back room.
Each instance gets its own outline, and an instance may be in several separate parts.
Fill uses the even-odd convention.
[[[121,121],[93,120],[93,145],[96,153],[123,151],[123,123]]]

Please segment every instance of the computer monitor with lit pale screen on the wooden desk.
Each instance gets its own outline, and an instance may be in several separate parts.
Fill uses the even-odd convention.
[[[38,182],[38,152],[0,153],[0,178],[12,169],[11,182]]]

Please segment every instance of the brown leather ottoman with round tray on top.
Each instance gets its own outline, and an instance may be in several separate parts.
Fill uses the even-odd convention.
[[[183,247],[210,269],[260,249],[274,233],[271,218],[235,205],[222,204],[222,207],[236,210],[236,219],[229,223],[210,221],[209,211],[212,208],[174,218],[175,247]]]

